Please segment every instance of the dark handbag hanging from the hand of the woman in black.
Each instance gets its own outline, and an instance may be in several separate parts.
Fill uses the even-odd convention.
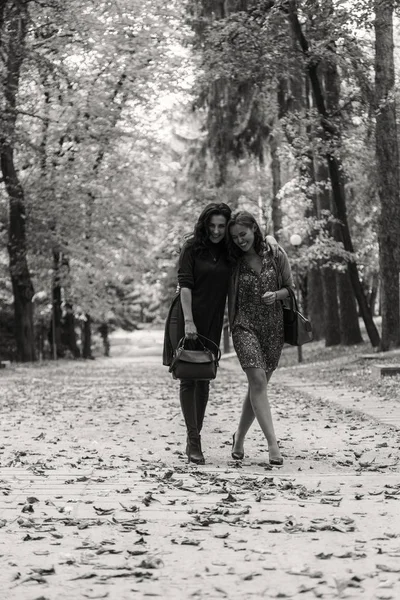
[[[216,353],[207,348],[201,339],[206,340],[215,346]],[[194,345],[200,346],[200,349],[185,348],[187,337],[179,340],[178,346],[174,351],[169,372],[172,373],[174,379],[198,379],[207,380],[215,379],[219,359],[221,358],[221,350],[212,340],[197,334],[197,338],[193,340]],[[192,341],[192,340],[189,340]]]

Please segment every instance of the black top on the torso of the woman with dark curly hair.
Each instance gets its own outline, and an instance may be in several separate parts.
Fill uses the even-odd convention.
[[[224,240],[218,244],[207,240],[206,248],[197,252],[190,242],[183,246],[178,266],[179,286],[192,290],[192,312],[197,331],[218,346],[230,274]]]

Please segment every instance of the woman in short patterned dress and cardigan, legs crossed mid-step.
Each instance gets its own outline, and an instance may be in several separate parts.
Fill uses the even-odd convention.
[[[248,390],[239,425],[233,435],[232,458],[244,457],[243,443],[254,418],[268,441],[269,462],[282,465],[276,440],[267,384],[278,366],[283,348],[282,302],[289,296],[293,278],[286,253],[278,246],[274,258],[263,241],[253,215],[236,213],[227,226],[228,248],[236,262],[229,295],[229,322]]]

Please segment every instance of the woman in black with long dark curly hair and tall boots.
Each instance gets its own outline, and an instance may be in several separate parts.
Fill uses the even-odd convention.
[[[220,345],[231,262],[226,245],[226,225],[231,209],[224,203],[208,204],[200,214],[179,257],[180,294],[171,305],[165,326],[163,363],[170,365],[179,340],[196,339],[197,333]],[[273,237],[268,242],[275,244]],[[204,464],[201,429],[209,397],[209,381],[182,380],[180,404],[187,429],[189,462]]]

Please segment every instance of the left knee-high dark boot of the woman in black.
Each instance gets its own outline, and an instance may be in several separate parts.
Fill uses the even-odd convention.
[[[188,460],[196,464],[204,464],[204,456],[201,451],[201,438],[197,425],[196,381],[182,379],[179,397],[187,429],[186,454]]]

